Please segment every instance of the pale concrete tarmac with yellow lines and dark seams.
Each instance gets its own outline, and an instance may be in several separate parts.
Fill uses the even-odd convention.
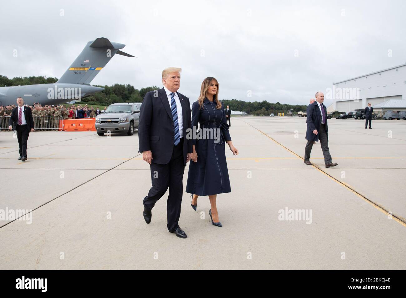
[[[240,154],[226,146],[223,227],[209,223],[208,197],[194,211],[184,193],[187,239],[166,229],[168,193],[143,219],[151,177],[137,132],[30,133],[22,162],[2,131],[0,214],[33,211],[32,223],[0,219],[0,269],[406,269],[406,121],[328,120],[338,166],[326,169],[319,143],[303,163],[305,118],[231,120]]]

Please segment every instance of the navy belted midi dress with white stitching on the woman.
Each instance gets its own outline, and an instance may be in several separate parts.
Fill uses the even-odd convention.
[[[225,141],[231,141],[224,105],[216,109],[216,101],[203,101],[192,106],[192,130],[202,129],[203,138],[194,138],[197,162],[190,161],[186,192],[196,195],[216,195],[231,192],[225,155]],[[210,130],[207,130],[210,129]],[[213,131],[216,130],[216,134]],[[210,131],[210,132],[209,132]],[[217,137],[213,137],[217,136]]]

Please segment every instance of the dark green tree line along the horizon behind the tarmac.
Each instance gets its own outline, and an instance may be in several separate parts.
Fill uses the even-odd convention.
[[[4,86],[23,86],[23,85],[35,85],[35,84],[53,84],[56,83],[58,79],[56,77],[43,77],[43,76],[31,76],[31,77],[14,77],[9,79],[6,76],[0,75],[0,87]],[[104,90],[102,92],[97,92],[90,96],[86,96],[82,99],[81,103],[87,103],[88,105],[99,105],[108,106],[112,103],[140,103],[143,101],[144,96],[147,92],[151,90],[158,89],[158,86],[145,87],[141,89],[136,89],[130,84],[114,84],[112,86],[99,86]],[[224,106],[230,106],[233,111],[242,111],[247,114],[252,114],[256,116],[264,115],[269,116],[269,114],[274,113],[285,113],[288,110],[293,109],[293,113],[297,114],[298,111],[306,111],[307,105],[288,105],[279,102],[269,103],[268,101],[242,101],[237,99],[222,99]],[[193,100],[192,100],[193,102]]]

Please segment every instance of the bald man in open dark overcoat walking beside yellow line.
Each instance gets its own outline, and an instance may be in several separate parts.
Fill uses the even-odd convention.
[[[311,148],[313,142],[320,139],[326,167],[335,167],[337,163],[331,162],[330,150],[328,149],[327,109],[323,105],[324,94],[316,92],[315,96],[316,101],[309,105],[307,109],[307,144],[304,149],[304,163],[312,165],[310,162]]]

